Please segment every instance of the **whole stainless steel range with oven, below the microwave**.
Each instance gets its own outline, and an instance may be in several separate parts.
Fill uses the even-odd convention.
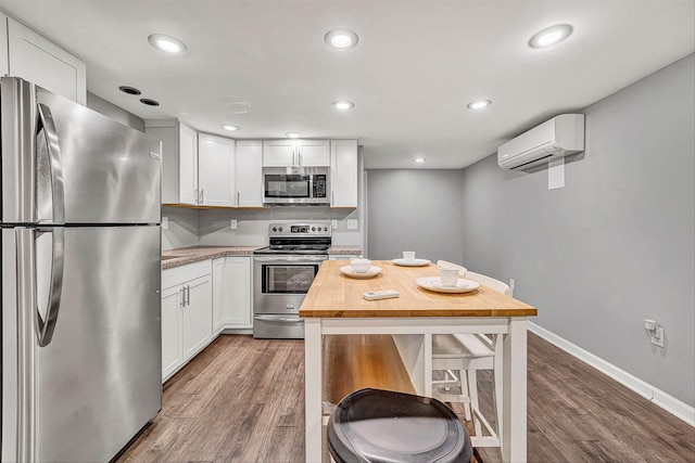
[[[253,253],[253,337],[304,338],[299,311],[331,245],[329,222],[270,223]]]

